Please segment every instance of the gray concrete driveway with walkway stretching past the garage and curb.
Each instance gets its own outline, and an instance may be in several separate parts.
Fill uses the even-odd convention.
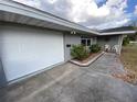
[[[115,54],[89,67],[71,63],[0,90],[0,102],[137,102],[137,87],[113,78],[124,72]]]

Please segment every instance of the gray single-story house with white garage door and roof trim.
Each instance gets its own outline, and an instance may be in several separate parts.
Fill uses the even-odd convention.
[[[0,86],[15,82],[71,59],[74,44],[119,45],[135,31],[96,32],[48,12],[0,0]]]

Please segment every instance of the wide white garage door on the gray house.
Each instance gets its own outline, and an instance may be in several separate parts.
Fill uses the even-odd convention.
[[[8,81],[64,61],[63,34],[2,27],[2,63]]]

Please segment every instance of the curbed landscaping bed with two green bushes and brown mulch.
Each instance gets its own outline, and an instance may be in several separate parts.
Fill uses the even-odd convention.
[[[103,52],[101,52],[101,46],[97,44],[91,46],[73,45],[71,48],[71,55],[73,58],[71,63],[78,66],[88,66],[102,54]]]

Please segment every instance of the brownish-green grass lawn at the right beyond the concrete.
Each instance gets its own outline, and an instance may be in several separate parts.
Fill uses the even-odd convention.
[[[134,76],[130,80],[137,83],[137,44],[123,46],[120,59],[129,76]]]

